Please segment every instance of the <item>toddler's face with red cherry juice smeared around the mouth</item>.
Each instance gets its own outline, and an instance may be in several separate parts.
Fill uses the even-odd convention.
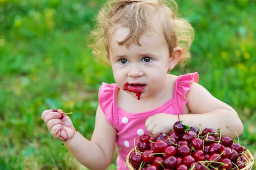
[[[140,44],[118,45],[128,35],[129,29],[119,27],[110,40],[109,59],[114,79],[122,90],[140,99],[160,94],[166,84],[170,62],[166,42],[157,33],[147,32],[140,37]],[[135,84],[135,85],[134,85]],[[140,87],[138,87],[140,85]],[[128,91],[127,91],[128,90]]]

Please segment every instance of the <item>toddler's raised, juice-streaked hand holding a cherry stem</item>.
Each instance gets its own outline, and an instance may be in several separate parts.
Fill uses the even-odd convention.
[[[63,112],[58,109],[58,112]],[[60,141],[67,141],[73,138],[76,130],[71,119],[64,113],[58,113],[56,110],[46,110],[42,113],[42,119],[47,124],[51,135]]]

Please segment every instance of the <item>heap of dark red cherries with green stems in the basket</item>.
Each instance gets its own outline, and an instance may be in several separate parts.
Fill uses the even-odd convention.
[[[230,129],[229,126],[227,128]],[[220,127],[216,131],[218,133],[215,133],[212,128],[201,131],[201,128],[198,130],[196,127],[189,127],[182,121],[178,121],[169,134],[141,135],[140,142],[129,155],[129,162],[136,170],[239,170],[244,168],[245,163],[248,162],[243,156],[246,148],[239,144],[239,138],[236,142],[227,136],[221,136]]]

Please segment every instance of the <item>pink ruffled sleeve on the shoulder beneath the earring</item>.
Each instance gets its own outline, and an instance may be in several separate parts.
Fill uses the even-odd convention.
[[[189,73],[180,75],[177,77],[176,84],[175,84],[175,91],[174,91],[174,99],[175,99],[175,106],[176,111],[178,114],[183,114],[184,107],[188,101],[185,97],[187,91],[191,88],[190,83],[199,81],[199,74],[198,72]]]

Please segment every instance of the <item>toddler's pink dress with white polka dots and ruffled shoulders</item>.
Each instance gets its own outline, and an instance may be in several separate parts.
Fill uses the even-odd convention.
[[[102,83],[99,88],[99,106],[104,112],[108,122],[117,130],[117,170],[128,170],[126,156],[134,147],[134,138],[139,138],[143,134],[148,134],[145,129],[145,120],[157,113],[168,113],[173,115],[183,114],[186,105],[186,92],[190,89],[190,82],[198,82],[197,72],[180,75],[175,82],[172,99],[151,111],[141,113],[129,113],[116,105],[116,92],[119,87],[116,84]]]

